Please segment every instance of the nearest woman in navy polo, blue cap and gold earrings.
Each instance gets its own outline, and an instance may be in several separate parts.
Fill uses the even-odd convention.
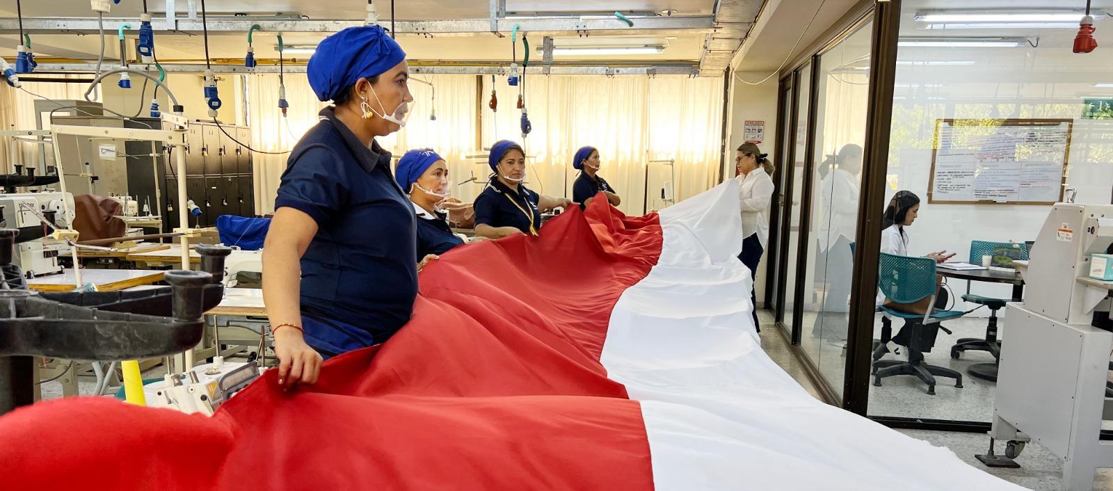
[[[405,52],[377,26],[325,38],[309,58],[319,122],[294,146],[263,248],[278,383],[314,383],[323,357],[386,341],[417,295],[413,205],[375,141],[405,126]]]

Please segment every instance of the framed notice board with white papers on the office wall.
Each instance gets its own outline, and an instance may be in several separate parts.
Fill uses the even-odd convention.
[[[928,203],[1061,202],[1072,124],[1070,119],[937,119]]]

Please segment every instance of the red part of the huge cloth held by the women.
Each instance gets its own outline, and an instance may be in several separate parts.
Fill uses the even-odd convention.
[[[110,441],[116,460],[96,460],[96,475],[129,472],[127,462],[162,468],[114,481],[116,490],[650,490],[640,405],[599,356],[614,303],[660,251],[656,215],[629,218],[595,199],[550,220],[541,237],[473,244],[427,265],[411,322],[381,346],[331,360],[313,386],[286,393],[267,372],[213,419],[130,406],[127,418],[106,418],[121,405],[86,411],[81,399],[62,400],[0,419],[0,441],[28,465],[17,489],[81,462],[88,443],[75,433],[29,448],[42,435],[17,431],[62,424]],[[174,419],[183,424],[160,425]],[[155,449],[134,444],[140,438],[213,446],[198,468],[151,461]],[[219,471],[214,455],[226,455]],[[218,483],[179,478],[189,470]],[[57,474],[49,488],[96,479],[82,474]]]

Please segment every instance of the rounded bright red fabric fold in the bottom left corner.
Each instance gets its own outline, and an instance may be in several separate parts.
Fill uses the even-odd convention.
[[[0,489],[214,489],[234,423],[109,397],[68,397],[0,418]]]

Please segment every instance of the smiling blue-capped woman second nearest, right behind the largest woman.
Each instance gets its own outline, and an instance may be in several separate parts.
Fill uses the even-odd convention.
[[[446,214],[437,207],[452,199],[449,189],[449,165],[430,149],[410,150],[398,159],[394,170],[398,186],[410,193],[417,215],[417,257],[420,266],[449,249],[466,244],[452,233]]]

